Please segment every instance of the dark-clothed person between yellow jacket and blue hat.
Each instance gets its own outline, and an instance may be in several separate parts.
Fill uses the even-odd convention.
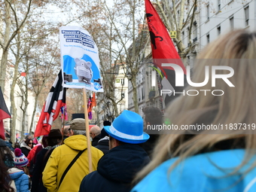
[[[109,122],[108,120],[104,120],[103,126],[111,126],[111,122]],[[104,128],[101,130],[100,136],[101,139],[99,139],[99,142],[95,147],[101,150],[104,154],[106,154],[109,151],[109,137],[108,133],[105,132]]]

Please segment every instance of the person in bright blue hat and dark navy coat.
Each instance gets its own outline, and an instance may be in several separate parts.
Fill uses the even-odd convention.
[[[110,151],[99,160],[97,170],[84,177],[80,192],[130,191],[134,175],[149,161],[148,154],[138,145],[149,138],[143,133],[139,114],[124,110],[104,129],[109,135]]]

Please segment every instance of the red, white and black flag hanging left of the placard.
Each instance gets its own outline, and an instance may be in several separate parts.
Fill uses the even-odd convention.
[[[50,128],[53,120],[59,116],[59,111],[66,104],[66,88],[63,88],[62,72],[53,83],[50,93],[47,96],[38,124],[35,129],[35,137],[44,136],[50,133]]]

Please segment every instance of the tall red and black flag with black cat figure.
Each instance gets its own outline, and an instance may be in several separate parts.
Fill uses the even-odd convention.
[[[172,67],[162,66],[162,63],[173,63],[178,65],[183,69],[184,81],[186,75],[186,69],[184,68],[183,62],[175,49],[172,39],[167,32],[166,26],[160,19],[154,6],[151,4],[150,0],[145,0],[145,10],[146,17],[148,21],[148,30],[151,36],[151,49],[154,66],[160,69],[161,79],[161,89],[162,90],[172,90],[172,93],[163,94],[163,104],[165,107],[175,98],[178,94],[173,94],[175,92],[181,92],[184,87],[175,87],[175,71]]]

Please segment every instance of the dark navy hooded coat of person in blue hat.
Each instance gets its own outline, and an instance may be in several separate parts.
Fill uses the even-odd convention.
[[[129,192],[136,172],[148,162],[148,154],[139,145],[112,148],[99,160],[97,170],[84,177],[79,192]]]

